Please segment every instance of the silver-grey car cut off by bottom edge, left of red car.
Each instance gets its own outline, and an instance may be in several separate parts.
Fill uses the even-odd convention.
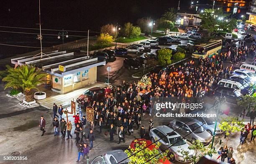
[[[123,159],[125,160],[123,161]],[[130,159],[123,150],[112,150],[106,152],[104,156],[96,156],[90,164],[117,164],[120,161],[122,164],[128,164]]]

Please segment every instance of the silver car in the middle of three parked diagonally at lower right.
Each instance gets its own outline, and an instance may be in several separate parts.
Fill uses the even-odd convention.
[[[191,143],[199,140],[204,145],[210,144],[212,141],[212,136],[210,133],[208,133],[196,121],[187,120],[186,122],[188,123],[185,125],[185,122],[174,119],[173,121],[170,121],[169,126],[176,130],[182,137],[189,140]]]

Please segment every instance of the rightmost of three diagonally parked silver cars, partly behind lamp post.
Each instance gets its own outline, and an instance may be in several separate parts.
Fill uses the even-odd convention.
[[[192,111],[191,114],[202,114],[204,112],[202,111]],[[195,117],[191,118],[193,121],[196,121],[198,124],[202,125],[202,127],[211,135],[214,133],[214,128],[215,128],[215,119],[212,117],[207,118],[207,117]],[[217,119],[217,118],[216,118]],[[215,136],[219,136],[224,133],[219,127],[220,123],[217,122],[216,130],[215,130]]]

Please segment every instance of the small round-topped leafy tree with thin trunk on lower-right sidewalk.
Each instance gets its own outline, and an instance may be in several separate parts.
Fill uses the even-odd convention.
[[[226,136],[231,133],[240,131],[243,126],[243,120],[238,121],[238,117],[225,117],[220,121],[219,127],[221,130],[226,131]],[[226,145],[228,144],[228,139]]]

